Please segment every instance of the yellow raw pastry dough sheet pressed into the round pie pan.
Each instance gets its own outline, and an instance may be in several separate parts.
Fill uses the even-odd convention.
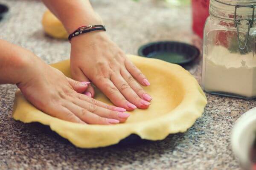
[[[81,125],[49,116],[16,92],[13,118],[25,123],[41,122],[77,147],[104,147],[118,143],[134,133],[142,139],[161,140],[170,133],[185,132],[199,118],[207,98],[198,82],[179,65],[159,59],[129,56],[148,77],[151,86],[145,91],[153,97],[147,110],[131,112],[127,122],[118,125]],[[69,60],[52,65],[70,77]],[[111,104],[98,90],[96,99]]]

